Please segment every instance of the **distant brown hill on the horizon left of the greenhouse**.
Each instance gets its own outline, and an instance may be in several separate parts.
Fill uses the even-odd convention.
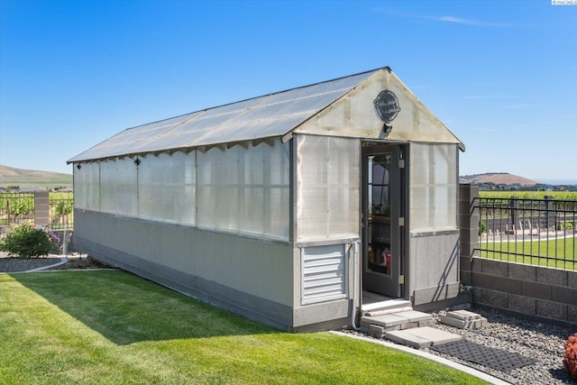
[[[0,165],[0,187],[20,186],[21,188],[72,187],[72,174],[59,172],[22,170]]]

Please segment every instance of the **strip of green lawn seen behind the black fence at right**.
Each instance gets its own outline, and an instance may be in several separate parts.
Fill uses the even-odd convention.
[[[479,252],[481,258],[577,270],[577,251],[575,251],[574,237],[540,242],[530,242],[528,240],[524,242],[518,241],[517,243],[481,242],[480,247],[481,249],[489,250]],[[493,250],[497,252],[491,252]],[[527,257],[517,254],[538,255],[538,257]]]

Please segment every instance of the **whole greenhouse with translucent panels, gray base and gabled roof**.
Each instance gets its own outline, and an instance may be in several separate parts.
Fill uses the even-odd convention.
[[[283,330],[435,306],[460,287],[459,151],[387,67],[207,108],[69,160],[74,243]]]

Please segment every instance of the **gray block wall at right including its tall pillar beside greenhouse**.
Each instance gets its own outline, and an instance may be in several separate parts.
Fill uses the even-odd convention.
[[[577,328],[577,271],[481,259],[476,185],[459,188],[461,282],[472,304],[514,316]]]

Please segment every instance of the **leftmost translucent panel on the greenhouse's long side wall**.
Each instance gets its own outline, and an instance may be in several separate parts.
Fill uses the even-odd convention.
[[[74,206],[100,210],[100,165],[80,163],[74,167]]]

